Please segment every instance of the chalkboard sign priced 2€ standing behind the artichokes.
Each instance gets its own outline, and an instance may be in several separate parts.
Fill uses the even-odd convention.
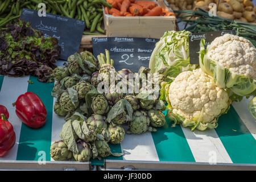
[[[158,41],[147,38],[92,38],[93,55],[105,54],[105,49],[108,49],[116,71],[127,68],[138,72],[141,66],[149,66],[151,53]]]

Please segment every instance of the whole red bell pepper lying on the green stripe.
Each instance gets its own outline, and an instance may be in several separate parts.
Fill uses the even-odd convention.
[[[32,92],[26,92],[15,102],[16,115],[28,127],[38,129],[46,123],[46,107],[40,98]]]

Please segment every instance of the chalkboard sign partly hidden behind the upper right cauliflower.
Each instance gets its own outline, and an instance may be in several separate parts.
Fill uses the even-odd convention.
[[[222,36],[224,34],[233,34],[236,35],[235,30],[222,30],[222,31],[214,31],[214,32],[200,32],[195,34],[188,35],[188,43],[189,43],[189,60],[190,64],[199,64],[199,51],[200,51],[200,42],[201,39],[205,39],[205,48],[213,42],[215,38],[218,36]]]

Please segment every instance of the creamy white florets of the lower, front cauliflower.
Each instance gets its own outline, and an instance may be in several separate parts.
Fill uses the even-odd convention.
[[[173,114],[204,123],[214,121],[230,105],[228,93],[201,69],[180,73],[170,85],[168,101]]]

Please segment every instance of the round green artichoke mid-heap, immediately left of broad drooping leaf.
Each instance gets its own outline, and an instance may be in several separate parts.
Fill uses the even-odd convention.
[[[106,98],[102,95],[93,97],[92,110],[94,114],[106,114],[109,111],[109,104]]]

